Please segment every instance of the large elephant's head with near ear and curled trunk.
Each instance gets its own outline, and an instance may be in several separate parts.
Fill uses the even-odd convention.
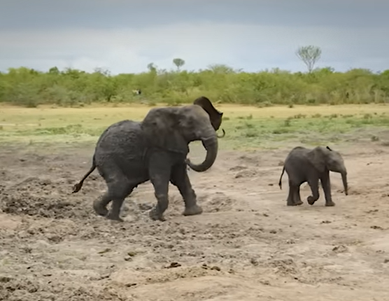
[[[218,137],[211,120],[201,107],[196,105],[151,109],[141,123],[150,146],[181,153],[186,157],[188,144],[201,140],[206,148],[206,158],[199,165],[189,159],[186,163],[196,172],[205,172],[218,155]]]

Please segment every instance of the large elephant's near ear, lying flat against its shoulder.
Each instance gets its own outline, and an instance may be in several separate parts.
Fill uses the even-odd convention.
[[[181,134],[178,108],[151,109],[141,123],[149,146],[176,153],[189,153],[188,143]]]

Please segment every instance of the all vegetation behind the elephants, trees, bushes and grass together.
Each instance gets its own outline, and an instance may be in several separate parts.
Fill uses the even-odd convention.
[[[171,71],[149,64],[147,72],[116,76],[104,70],[9,69],[0,73],[0,143],[94,144],[118,120],[141,120],[150,106],[192,103],[201,95],[224,112],[222,148],[336,143],[351,133],[384,139],[376,130],[389,125],[389,107],[383,105],[389,100],[389,70],[315,69],[321,50],[311,45],[296,55],[306,73],[248,73],[225,65],[185,71],[180,58],[173,59]]]

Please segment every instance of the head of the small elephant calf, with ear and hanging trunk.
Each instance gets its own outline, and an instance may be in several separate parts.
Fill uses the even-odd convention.
[[[347,169],[339,152],[332,151],[328,146],[317,146],[308,153],[308,159],[320,173],[325,172],[325,169],[327,169],[341,174],[344,193],[348,195]]]

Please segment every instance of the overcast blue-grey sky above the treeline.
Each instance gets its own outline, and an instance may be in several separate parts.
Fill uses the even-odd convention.
[[[153,62],[184,69],[227,64],[245,71],[317,66],[389,69],[386,0],[0,0],[0,71],[52,66],[115,73]]]

